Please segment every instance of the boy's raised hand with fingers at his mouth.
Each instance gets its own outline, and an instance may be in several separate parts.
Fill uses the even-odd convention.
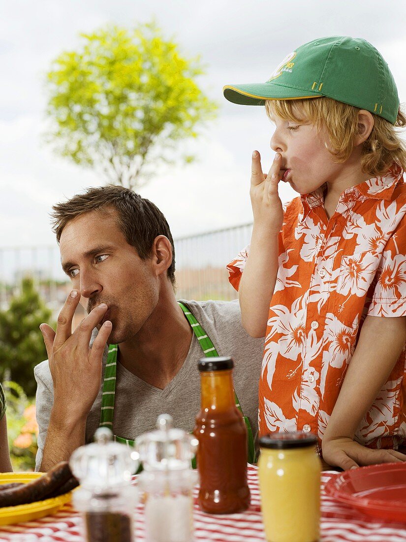
[[[279,233],[283,223],[282,202],[278,195],[281,178],[281,155],[277,152],[268,175],[263,173],[258,151],[252,153],[251,205],[254,224],[265,225],[267,230]]]

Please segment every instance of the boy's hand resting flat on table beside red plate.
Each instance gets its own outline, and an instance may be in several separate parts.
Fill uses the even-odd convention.
[[[348,437],[323,439],[322,451],[326,463],[344,470],[364,465],[406,461],[406,455],[401,454],[400,451],[366,448]]]

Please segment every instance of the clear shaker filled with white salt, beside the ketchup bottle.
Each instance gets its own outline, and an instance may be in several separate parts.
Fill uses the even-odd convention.
[[[137,438],[148,542],[193,542],[192,490],[198,473],[191,460],[197,445],[193,435],[173,428],[168,414],[158,417],[155,431]]]

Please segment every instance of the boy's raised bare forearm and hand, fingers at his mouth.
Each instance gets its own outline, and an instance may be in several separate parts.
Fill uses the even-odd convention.
[[[276,154],[268,175],[258,151],[252,154],[250,197],[254,225],[250,255],[241,276],[238,298],[241,321],[251,337],[264,337],[269,305],[278,273],[278,235],[283,208],[278,196],[281,156]]]

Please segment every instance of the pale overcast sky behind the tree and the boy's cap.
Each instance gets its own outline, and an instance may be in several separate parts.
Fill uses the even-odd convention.
[[[250,157],[272,161],[272,125],[263,107],[228,103],[227,83],[266,81],[284,56],[317,37],[352,35],[374,44],[406,100],[404,0],[0,0],[0,248],[53,244],[51,205],[104,183],[93,171],[57,158],[43,141],[44,74],[78,34],[107,23],[155,18],[185,56],[207,67],[200,85],[220,105],[218,119],[192,145],[198,161],[168,167],[141,190],[165,213],[174,236],[251,220]],[[294,192],[283,187],[289,201]]]

